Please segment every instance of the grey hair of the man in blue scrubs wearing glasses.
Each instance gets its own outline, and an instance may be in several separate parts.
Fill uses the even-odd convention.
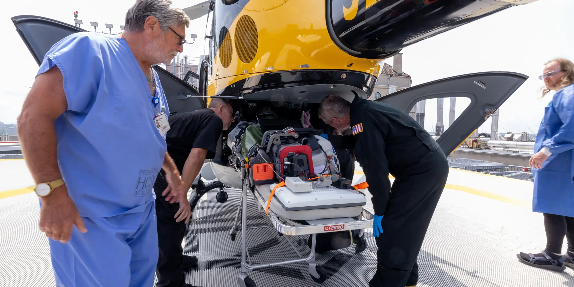
[[[189,17],[183,10],[173,7],[171,0],[137,0],[127,10],[125,31],[142,32],[149,16],[157,18],[164,33],[170,26],[189,27]]]

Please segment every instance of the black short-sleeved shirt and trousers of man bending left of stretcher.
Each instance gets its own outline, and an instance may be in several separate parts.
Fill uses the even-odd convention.
[[[181,173],[191,149],[207,149],[206,159],[215,156],[218,139],[223,130],[223,122],[210,108],[171,115],[170,130],[165,141],[168,153]],[[157,237],[160,254],[157,261],[157,287],[184,287],[183,257],[181,242],[185,234],[184,220],[176,222],[174,215],[179,203],[165,201],[164,192],[168,186],[165,172],[161,170],[153,188],[156,192]],[[186,191],[187,192],[187,191]]]

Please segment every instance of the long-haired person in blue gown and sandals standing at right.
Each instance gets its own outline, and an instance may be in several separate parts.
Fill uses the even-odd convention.
[[[538,78],[546,85],[543,96],[556,92],[545,107],[529,161],[534,175],[532,211],[544,215],[546,249],[517,257],[534,267],[562,271],[565,266],[574,268],[574,64],[552,60]],[[562,255],[564,236],[568,250]]]

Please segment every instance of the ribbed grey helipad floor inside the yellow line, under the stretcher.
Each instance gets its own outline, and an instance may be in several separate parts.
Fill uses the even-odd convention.
[[[487,175],[484,175],[487,177]],[[205,287],[233,287],[239,267],[239,236],[232,242],[232,224],[239,189],[227,189],[229,199],[220,204],[214,191],[196,207],[184,241],[184,253],[199,257],[187,282]],[[367,202],[370,202],[368,200]],[[369,209],[371,207],[369,206]],[[54,286],[47,239],[38,231],[39,208],[34,193],[0,200],[0,286]],[[250,224],[267,224],[250,203]],[[297,263],[249,273],[259,287],[271,286],[367,286],[375,270],[376,246],[371,231],[365,232],[369,247],[355,254],[354,246],[317,255],[327,269],[323,284],[312,281],[307,265]],[[296,257],[292,240],[307,253],[307,236],[277,236],[270,228],[250,230],[253,262]],[[466,192],[445,189],[429,227],[418,262],[418,286],[448,287],[574,287],[574,270],[556,273],[518,262],[518,251],[544,247],[542,216],[528,208]]]

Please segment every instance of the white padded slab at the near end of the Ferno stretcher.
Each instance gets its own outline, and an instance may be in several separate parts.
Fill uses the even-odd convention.
[[[269,188],[273,190],[275,185],[277,184],[272,184]],[[321,210],[367,204],[364,195],[351,189],[339,189],[329,185],[323,188],[312,187],[307,191],[293,192],[285,186],[277,188],[275,196],[286,211]]]

